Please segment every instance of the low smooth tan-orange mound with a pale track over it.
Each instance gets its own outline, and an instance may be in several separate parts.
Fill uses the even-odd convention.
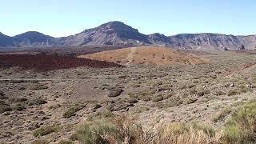
[[[122,65],[129,64],[204,64],[210,61],[194,54],[170,50],[165,47],[132,47],[121,50],[103,51],[94,54],[80,55],[78,58],[90,58]]]

